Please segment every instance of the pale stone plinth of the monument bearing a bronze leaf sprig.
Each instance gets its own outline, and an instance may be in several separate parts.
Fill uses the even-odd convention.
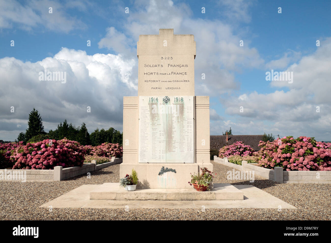
[[[213,170],[212,163],[204,163],[210,171]],[[172,169],[162,173],[164,169]],[[119,165],[119,177],[123,178],[126,174],[131,174],[134,169],[138,174],[137,188],[192,188],[188,183],[191,181],[191,174],[198,173],[202,164],[197,163],[121,163]],[[160,174],[160,175],[159,175]],[[212,187],[212,186],[211,186]]]

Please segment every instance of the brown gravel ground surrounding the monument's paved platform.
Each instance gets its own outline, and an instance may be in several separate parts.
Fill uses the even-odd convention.
[[[297,209],[58,209],[39,208],[83,184],[119,181],[119,165],[61,182],[0,182],[1,220],[330,220],[331,184],[277,184],[255,176],[255,182],[228,181],[232,167],[214,163],[214,182],[254,185]]]

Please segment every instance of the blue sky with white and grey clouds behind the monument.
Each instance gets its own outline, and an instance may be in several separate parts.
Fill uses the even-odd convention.
[[[173,28],[195,36],[195,94],[210,96],[211,135],[231,126],[237,135],[330,141],[330,8],[330,1],[0,1],[0,139],[25,131],[33,107],[46,131],[64,119],[85,122],[90,133],[121,130],[122,97],[137,95],[139,34]],[[72,82],[42,83],[35,76],[43,68],[67,71]],[[293,83],[266,81],[271,69],[293,71]]]

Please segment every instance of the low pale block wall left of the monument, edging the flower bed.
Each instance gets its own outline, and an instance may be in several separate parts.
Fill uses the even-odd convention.
[[[84,163],[83,166],[63,168],[55,166],[54,170],[0,170],[0,182],[53,182],[62,181],[88,172],[99,170],[110,165],[120,164],[123,158],[112,157],[110,162],[100,165],[93,160],[92,163]],[[23,178],[23,179],[22,179]]]

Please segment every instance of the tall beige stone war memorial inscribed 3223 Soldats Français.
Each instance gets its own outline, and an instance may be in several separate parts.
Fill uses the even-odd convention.
[[[209,96],[194,95],[193,35],[140,35],[138,96],[123,97],[123,163],[137,188],[187,188],[210,163]]]

